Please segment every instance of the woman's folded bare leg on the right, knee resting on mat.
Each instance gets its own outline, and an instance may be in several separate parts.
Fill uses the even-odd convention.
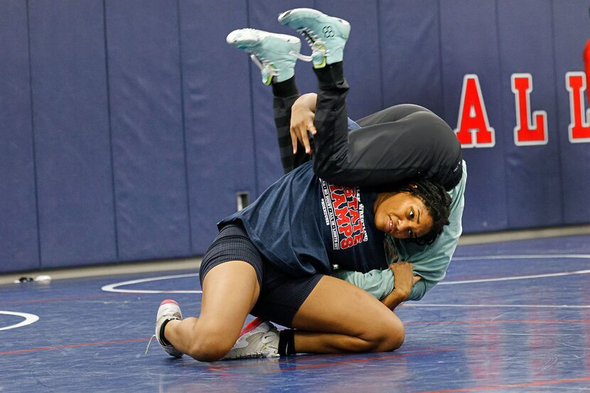
[[[318,282],[293,326],[299,353],[385,352],[404,342],[404,325],[389,308],[331,276]]]

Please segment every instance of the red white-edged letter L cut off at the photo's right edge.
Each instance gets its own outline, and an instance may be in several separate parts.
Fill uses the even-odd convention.
[[[569,92],[570,123],[569,141],[572,144],[590,142],[590,109],[584,113],[584,90],[586,90],[586,75],[584,72],[567,72],[565,88]]]

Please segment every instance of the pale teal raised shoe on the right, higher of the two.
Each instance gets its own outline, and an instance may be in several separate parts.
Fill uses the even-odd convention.
[[[350,23],[315,9],[291,9],[279,15],[279,23],[303,34],[311,46],[313,68],[342,61]]]

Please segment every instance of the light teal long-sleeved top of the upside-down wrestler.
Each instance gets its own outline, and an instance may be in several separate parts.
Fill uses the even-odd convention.
[[[449,215],[449,225],[444,227],[443,233],[436,241],[429,246],[420,246],[418,244],[407,242],[402,239],[393,239],[387,237],[387,241],[397,251],[397,259],[389,259],[388,264],[398,261],[412,262],[414,265],[414,274],[422,277],[412,286],[412,292],[407,300],[420,300],[439,281],[444,279],[446,269],[451,263],[451,257],[457,247],[457,242],[463,231],[461,218],[463,217],[463,208],[465,205],[465,185],[467,182],[467,166],[463,161],[463,176],[461,181],[449,191],[451,195],[451,215]],[[382,299],[393,290],[394,281],[393,273],[390,269],[372,270],[368,273],[359,271],[338,270],[334,276],[348,281],[360,288],[368,291],[372,296]]]

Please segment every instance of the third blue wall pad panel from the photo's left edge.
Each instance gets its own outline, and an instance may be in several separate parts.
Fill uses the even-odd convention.
[[[177,2],[107,1],[106,18],[119,258],[186,256]]]

